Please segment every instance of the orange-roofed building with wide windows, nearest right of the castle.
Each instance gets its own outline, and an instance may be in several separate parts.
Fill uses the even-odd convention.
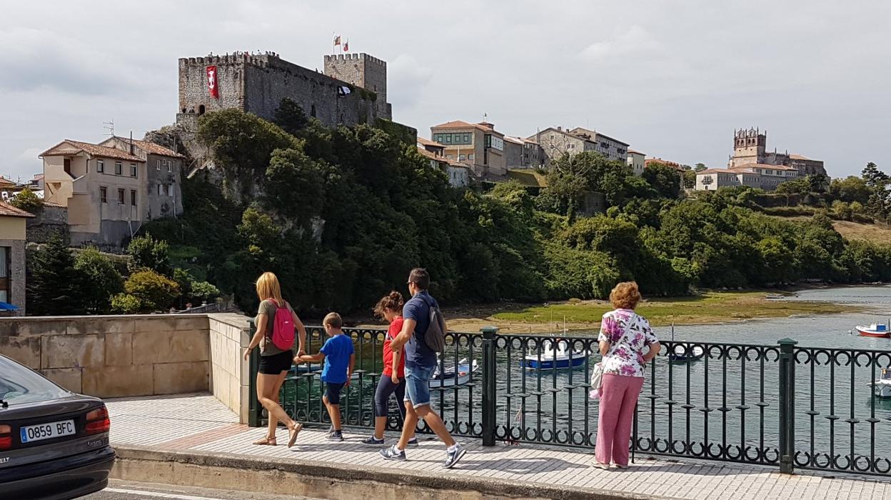
[[[430,127],[430,135],[445,147],[446,160],[466,165],[473,176],[499,180],[507,175],[504,135],[493,124],[449,121]]]

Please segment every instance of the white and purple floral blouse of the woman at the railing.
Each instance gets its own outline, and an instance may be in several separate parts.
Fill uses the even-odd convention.
[[[643,348],[659,341],[650,322],[631,309],[616,309],[603,315],[597,340],[609,342],[609,351],[602,361],[603,373],[625,377],[643,377]]]

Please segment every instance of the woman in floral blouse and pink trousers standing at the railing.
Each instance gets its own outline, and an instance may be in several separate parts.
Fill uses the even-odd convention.
[[[634,313],[640,300],[637,283],[618,283],[609,293],[615,309],[603,315],[597,338],[603,379],[594,465],[601,469],[609,469],[610,462],[619,469],[628,468],[628,443],[643,387],[643,368],[659,353],[659,340],[650,323]]]

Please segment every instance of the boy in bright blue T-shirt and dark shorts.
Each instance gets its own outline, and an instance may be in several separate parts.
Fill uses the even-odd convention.
[[[343,432],[340,430],[340,389],[349,387],[349,378],[353,375],[353,367],[356,365],[356,354],[353,349],[353,340],[344,334],[343,320],[337,313],[328,313],[322,322],[325,333],[330,337],[315,355],[303,355],[295,358],[295,361],[315,362],[322,360],[325,365],[322,369],[322,381],[325,383],[325,393],[322,400],[328,408],[331,417],[331,432],[328,434],[330,441],[342,441]]]

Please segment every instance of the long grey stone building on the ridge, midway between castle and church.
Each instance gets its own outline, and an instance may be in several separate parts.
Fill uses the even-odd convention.
[[[627,143],[583,127],[571,130],[565,130],[563,127],[547,127],[535,135],[530,135],[528,139],[540,145],[544,155],[544,165],[550,165],[564,153],[573,155],[579,152],[599,152],[607,160],[627,162]]]

